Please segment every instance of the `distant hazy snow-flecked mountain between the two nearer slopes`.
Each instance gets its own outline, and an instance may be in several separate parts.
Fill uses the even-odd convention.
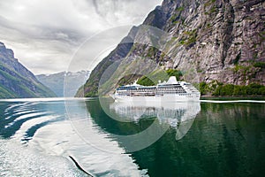
[[[89,72],[80,71],[76,73],[72,72],[61,72],[54,74],[40,74],[36,75],[37,79],[41,81],[44,85],[53,90],[57,96],[64,96],[64,81],[67,84],[65,88],[65,96],[74,96],[79,87],[81,87],[85,81],[87,81]]]

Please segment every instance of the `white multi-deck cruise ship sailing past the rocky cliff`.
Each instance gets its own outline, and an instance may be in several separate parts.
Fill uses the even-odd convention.
[[[117,88],[111,96],[121,102],[176,102],[199,101],[201,93],[191,83],[177,81],[175,76],[171,76],[169,81],[159,81],[156,86],[142,86],[135,81],[133,84]]]

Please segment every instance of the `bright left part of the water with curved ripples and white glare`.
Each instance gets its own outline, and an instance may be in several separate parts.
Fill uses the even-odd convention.
[[[96,141],[120,153],[102,152],[84,142],[65,117],[64,99],[24,101],[0,104],[0,176],[140,176],[147,172],[139,170],[133,158],[96,127],[91,132]],[[75,110],[78,102],[72,102]]]

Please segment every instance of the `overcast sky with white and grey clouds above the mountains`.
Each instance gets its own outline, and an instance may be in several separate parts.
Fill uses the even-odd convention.
[[[35,74],[65,71],[79,46],[91,36],[117,27],[121,30],[112,42],[115,47],[131,26],[140,25],[162,1],[0,1],[0,42],[14,50],[15,58]]]

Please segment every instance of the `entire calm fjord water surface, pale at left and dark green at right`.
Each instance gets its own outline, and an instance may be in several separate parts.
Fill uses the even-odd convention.
[[[153,125],[141,143],[125,141]],[[264,102],[2,100],[0,136],[1,176],[86,176],[69,156],[95,176],[265,173]]]

